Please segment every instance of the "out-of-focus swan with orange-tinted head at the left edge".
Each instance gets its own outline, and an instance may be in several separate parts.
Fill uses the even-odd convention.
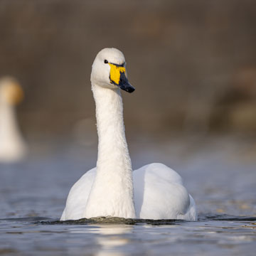
[[[15,106],[23,100],[21,85],[11,77],[0,80],[0,162],[13,162],[26,156]]]

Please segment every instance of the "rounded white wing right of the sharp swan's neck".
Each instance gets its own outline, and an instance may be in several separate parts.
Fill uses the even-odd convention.
[[[134,171],[137,218],[189,219],[191,198],[176,171],[164,164],[148,164]]]

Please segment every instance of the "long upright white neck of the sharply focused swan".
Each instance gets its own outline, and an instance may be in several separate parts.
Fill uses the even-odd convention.
[[[92,84],[99,137],[97,174],[87,201],[85,218],[135,218],[132,164],[124,134],[122,97]]]

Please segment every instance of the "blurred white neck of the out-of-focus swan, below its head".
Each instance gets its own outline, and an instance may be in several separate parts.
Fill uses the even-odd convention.
[[[16,161],[25,153],[14,106],[0,101],[0,161]]]

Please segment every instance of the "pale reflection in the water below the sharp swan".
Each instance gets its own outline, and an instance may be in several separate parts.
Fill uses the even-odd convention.
[[[90,231],[89,231],[90,230]],[[92,225],[88,228],[72,228],[70,233],[88,233],[88,231],[95,236],[95,243],[97,243],[98,250],[95,255],[125,255],[124,245],[131,242],[127,238],[127,234],[132,233],[134,226],[132,225]]]

